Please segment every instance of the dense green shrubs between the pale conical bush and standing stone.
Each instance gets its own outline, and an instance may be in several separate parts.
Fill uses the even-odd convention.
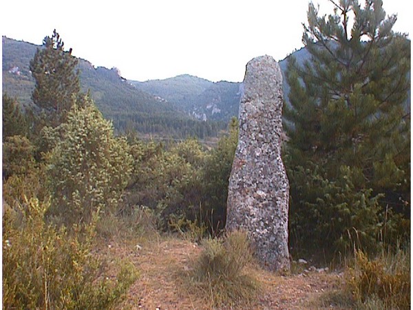
[[[197,221],[211,231],[224,228],[226,196],[235,147],[237,121],[218,146],[208,150],[194,139],[164,145],[131,141],[134,172],[128,186],[127,209],[155,209],[167,229]]]

